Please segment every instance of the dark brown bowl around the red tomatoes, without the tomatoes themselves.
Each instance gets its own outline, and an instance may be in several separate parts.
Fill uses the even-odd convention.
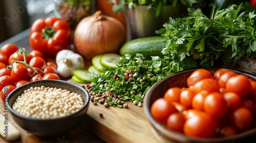
[[[218,68],[219,69],[219,68]],[[212,74],[218,70],[217,68],[207,69]],[[200,137],[189,137],[184,135],[183,133],[169,130],[166,126],[152,116],[151,114],[151,106],[154,101],[164,96],[164,93],[170,87],[187,87],[186,79],[195,71],[196,69],[184,70],[178,73],[167,76],[165,79],[156,82],[146,93],[143,109],[146,115],[147,120],[151,123],[154,128],[154,131],[160,136],[164,142],[166,141],[175,141],[175,142],[248,142],[251,141],[251,136],[256,135],[256,128],[245,131],[243,133],[229,136],[229,137],[215,137],[215,138],[200,138]],[[229,69],[232,70],[232,69]],[[232,70],[235,73],[243,74],[249,77],[250,79],[256,81],[256,77],[249,73],[245,73],[244,71]],[[246,141],[247,139],[247,141]],[[255,137],[254,137],[255,141]]]

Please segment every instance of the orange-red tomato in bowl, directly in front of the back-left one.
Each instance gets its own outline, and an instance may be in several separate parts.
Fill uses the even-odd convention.
[[[194,85],[194,88],[196,89],[197,93],[203,90],[209,93],[220,91],[220,86],[218,84],[218,81],[212,78],[206,78],[206,79],[200,80]]]

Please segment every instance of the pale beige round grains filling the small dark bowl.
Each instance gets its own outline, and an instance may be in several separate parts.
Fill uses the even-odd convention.
[[[19,114],[34,118],[57,118],[77,112],[84,105],[81,95],[67,89],[30,87],[13,103]]]

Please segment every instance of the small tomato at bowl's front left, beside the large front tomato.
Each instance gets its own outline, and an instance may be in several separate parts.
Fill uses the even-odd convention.
[[[183,132],[185,121],[186,120],[181,112],[175,112],[168,116],[166,125],[170,129],[173,129],[178,132]]]

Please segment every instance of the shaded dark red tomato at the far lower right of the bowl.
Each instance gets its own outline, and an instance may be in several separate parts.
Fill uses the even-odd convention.
[[[230,114],[230,120],[236,129],[245,131],[252,127],[253,115],[247,108],[241,107]]]

